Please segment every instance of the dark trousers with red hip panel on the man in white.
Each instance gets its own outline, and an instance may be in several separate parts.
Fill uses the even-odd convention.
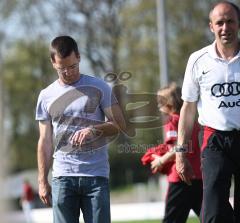
[[[202,223],[240,223],[240,132],[201,131],[203,174]],[[229,202],[235,180],[234,209]]]

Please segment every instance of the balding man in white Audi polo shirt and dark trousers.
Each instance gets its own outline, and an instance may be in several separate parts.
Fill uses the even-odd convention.
[[[202,223],[240,222],[239,192],[234,210],[229,203],[232,175],[240,172],[240,10],[227,1],[218,2],[209,14],[215,41],[188,61],[180,113],[176,169],[191,184],[192,167],[186,159],[190,133],[198,111],[203,174]],[[238,199],[237,199],[238,198]]]

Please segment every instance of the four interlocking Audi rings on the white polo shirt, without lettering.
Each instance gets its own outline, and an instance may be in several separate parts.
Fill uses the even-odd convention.
[[[215,97],[228,97],[240,94],[240,82],[230,82],[214,84],[211,88],[212,95]]]

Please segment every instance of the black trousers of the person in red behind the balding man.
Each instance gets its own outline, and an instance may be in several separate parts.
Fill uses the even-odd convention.
[[[200,215],[202,204],[202,180],[169,183],[163,223],[185,223],[190,210]]]

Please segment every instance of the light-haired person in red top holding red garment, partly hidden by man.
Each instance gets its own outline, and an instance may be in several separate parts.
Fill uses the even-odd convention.
[[[200,148],[198,145],[198,125],[192,133],[191,150],[187,157],[192,165],[194,177],[191,185],[181,181],[176,171],[174,146],[177,142],[179,113],[182,106],[181,89],[171,84],[158,91],[158,107],[164,123],[164,144],[161,144],[162,154],[153,152],[154,148],[142,157],[142,162],[148,159],[153,173],[157,171],[167,174],[168,192],[166,197],[163,223],[184,223],[190,210],[200,215],[202,203],[202,175],[200,170]],[[167,149],[166,149],[167,148]],[[159,149],[159,148],[158,148]],[[165,152],[163,151],[165,149]],[[157,147],[155,148],[156,151]],[[149,155],[151,154],[151,157]],[[145,162],[145,164],[147,163]]]

